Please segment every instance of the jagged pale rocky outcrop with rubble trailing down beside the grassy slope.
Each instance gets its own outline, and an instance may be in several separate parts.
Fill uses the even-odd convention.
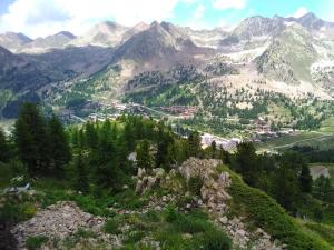
[[[199,160],[190,158],[179,168],[179,172],[188,180],[198,177],[203,180],[200,199],[198,204],[205,207],[209,214],[215,218],[215,223],[233,239],[235,246],[240,249],[252,250],[281,250],[281,244],[271,239],[271,236],[262,229],[248,231],[242,218],[228,219],[228,201],[233,199],[227,188],[232,183],[228,172],[218,173],[219,160]]]

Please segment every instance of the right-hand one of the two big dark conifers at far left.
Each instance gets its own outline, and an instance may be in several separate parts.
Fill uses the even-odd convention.
[[[56,171],[62,171],[71,160],[70,146],[61,122],[53,116],[49,123],[50,159]]]

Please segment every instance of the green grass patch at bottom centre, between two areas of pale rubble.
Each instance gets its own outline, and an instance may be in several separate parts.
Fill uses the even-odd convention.
[[[144,237],[158,241],[163,250],[229,250],[232,246],[230,239],[199,210],[185,214],[169,206],[164,211],[124,216],[122,221],[131,227],[122,249],[150,249],[140,243]]]

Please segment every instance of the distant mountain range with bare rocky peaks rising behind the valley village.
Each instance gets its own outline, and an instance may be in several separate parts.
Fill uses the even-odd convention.
[[[232,31],[194,30],[169,22],[125,27],[108,21],[78,37],[61,31],[33,40],[7,32],[0,34],[1,116],[16,117],[24,100],[58,109],[76,98],[125,101],[134,92],[179,84],[170,72],[189,67],[195,70],[187,72],[202,76],[197,80],[207,89],[228,86],[229,91],[246,89],[249,94],[262,89],[289,98],[312,93],[332,100],[334,23],[307,13],[249,17]],[[159,74],[169,77],[156,81]]]

